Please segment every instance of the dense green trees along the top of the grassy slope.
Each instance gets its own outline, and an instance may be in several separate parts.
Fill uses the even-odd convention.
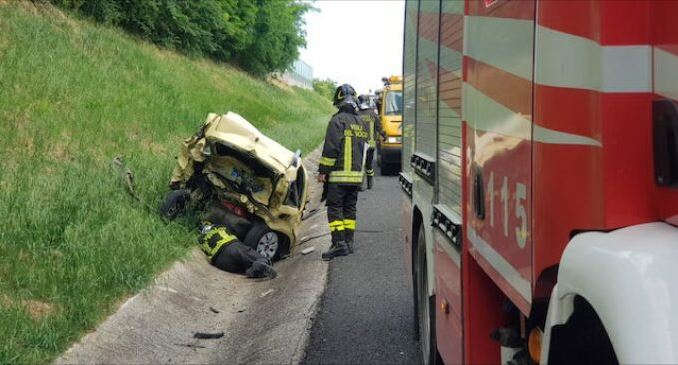
[[[47,0],[98,22],[120,26],[190,56],[234,62],[263,76],[285,71],[306,45],[297,0]]]

